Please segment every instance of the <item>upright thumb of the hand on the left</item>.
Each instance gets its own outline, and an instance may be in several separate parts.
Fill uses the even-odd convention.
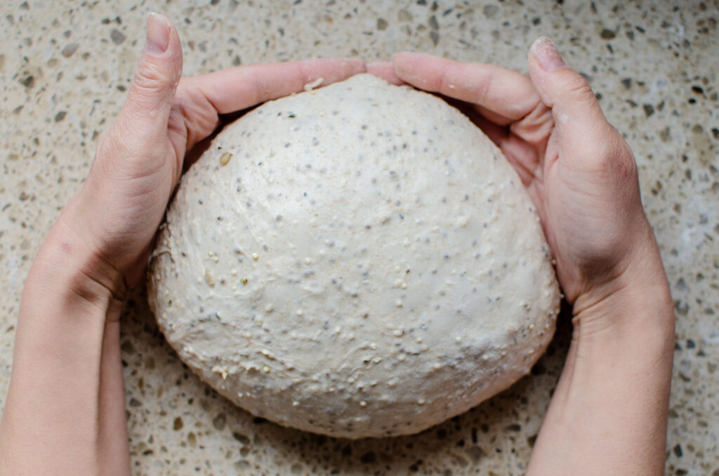
[[[134,132],[166,134],[182,73],[180,37],[166,17],[147,16],[147,38],[119,122]]]

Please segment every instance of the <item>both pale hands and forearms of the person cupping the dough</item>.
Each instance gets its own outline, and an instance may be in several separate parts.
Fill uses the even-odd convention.
[[[527,474],[663,474],[674,313],[636,164],[549,40],[532,45],[528,63],[525,76],[398,53],[391,63],[308,60],[180,80],[177,32],[151,15],[127,102],[25,283],[0,475],[130,474],[120,308],[186,152],[219,114],[364,71],[464,101],[539,211],[574,334]]]

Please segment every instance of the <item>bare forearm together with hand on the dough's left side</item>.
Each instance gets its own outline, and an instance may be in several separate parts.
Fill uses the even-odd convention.
[[[249,65],[180,81],[168,19],[151,14],[127,102],[25,281],[0,424],[0,475],[129,475],[119,314],[142,277],[186,152],[219,114],[331,83],[362,60]],[[68,385],[71,383],[71,385]]]

